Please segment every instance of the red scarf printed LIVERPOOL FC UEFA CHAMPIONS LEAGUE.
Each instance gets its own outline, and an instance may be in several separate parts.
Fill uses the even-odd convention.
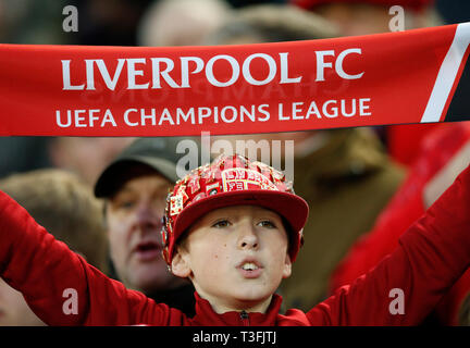
[[[470,23],[220,47],[0,45],[1,136],[190,136],[470,120]]]

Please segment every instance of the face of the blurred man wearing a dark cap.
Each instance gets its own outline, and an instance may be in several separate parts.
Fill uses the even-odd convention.
[[[146,294],[180,286],[161,256],[166,195],[172,184],[157,173],[128,179],[109,200],[110,252],[121,281]]]

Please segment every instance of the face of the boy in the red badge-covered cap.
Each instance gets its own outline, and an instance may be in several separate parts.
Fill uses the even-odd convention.
[[[172,270],[189,276],[217,312],[262,312],[282,278],[290,275],[287,249],[287,233],[276,213],[253,206],[221,208],[189,229]]]

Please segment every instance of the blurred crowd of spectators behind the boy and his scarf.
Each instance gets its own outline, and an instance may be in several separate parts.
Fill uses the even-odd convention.
[[[405,9],[405,29],[470,21],[467,0],[0,0],[0,42],[219,46],[368,35],[389,30],[394,4]],[[66,5],[77,9],[77,32],[62,28]],[[295,141],[294,187],[310,216],[279,293],[286,309],[305,311],[386,257],[470,159],[466,122],[212,140],[220,138]],[[180,140],[3,137],[0,189],[102,272],[191,314],[193,287],[156,257]],[[468,294],[466,273],[423,324],[469,325]],[[0,282],[0,325],[37,324]]]

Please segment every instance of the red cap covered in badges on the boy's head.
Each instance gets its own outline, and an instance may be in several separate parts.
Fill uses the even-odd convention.
[[[191,224],[214,209],[232,206],[259,206],[281,215],[287,223],[288,252],[295,261],[304,240],[307,202],[295,195],[283,173],[235,154],[194,170],[169,194],[162,228],[166,263],[171,264],[176,243]]]

